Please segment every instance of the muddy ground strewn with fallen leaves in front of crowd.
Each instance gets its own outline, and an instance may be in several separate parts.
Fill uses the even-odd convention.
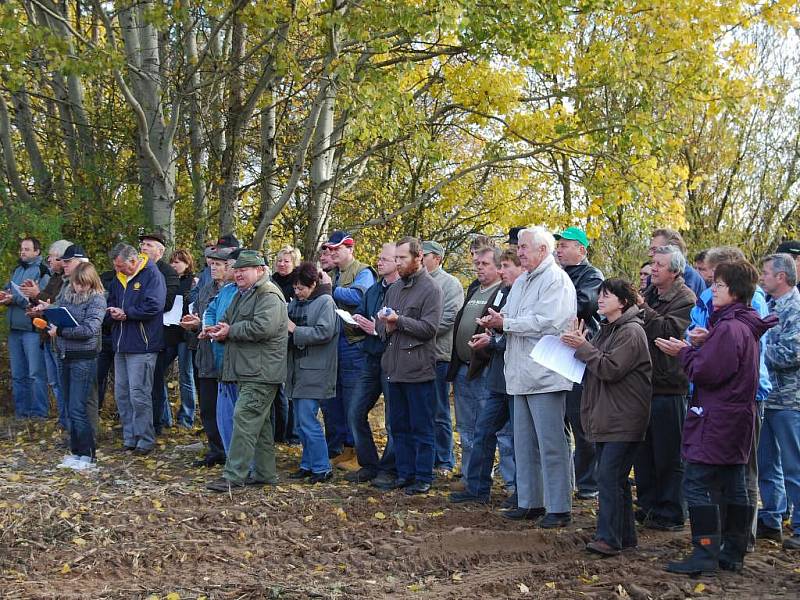
[[[453,506],[448,482],[409,498],[368,485],[285,479],[299,448],[279,447],[277,487],[210,494],[190,466],[200,432],[170,430],[134,458],[104,420],[93,474],[56,469],[52,424],[0,419],[2,598],[778,598],[800,597],[800,554],[759,541],[741,574],[665,573],[688,533],[640,532],[638,551],[583,546],[596,504],[543,531],[494,506]]]

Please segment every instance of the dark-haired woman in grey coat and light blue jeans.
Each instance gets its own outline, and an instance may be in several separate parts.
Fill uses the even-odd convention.
[[[286,394],[294,403],[297,434],[303,444],[300,468],[289,475],[319,483],[331,479],[325,432],[317,419],[320,402],[336,395],[339,317],[331,286],[323,284],[317,266],[300,263],[293,274],[289,303],[289,368]]]

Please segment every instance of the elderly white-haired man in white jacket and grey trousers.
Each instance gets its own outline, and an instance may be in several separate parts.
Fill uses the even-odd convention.
[[[575,286],[553,258],[555,238],[544,227],[519,233],[517,255],[527,274],[511,287],[501,312],[489,309],[481,325],[506,337],[505,376],[514,396],[514,458],[518,508],[510,519],[539,519],[545,529],[572,520],[570,449],[564,436],[572,382],[534,362],[531,350],[545,335],[561,335],[575,319]]]

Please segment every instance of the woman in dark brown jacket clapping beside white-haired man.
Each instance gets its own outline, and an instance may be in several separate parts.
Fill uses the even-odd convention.
[[[653,369],[633,286],[624,279],[606,279],[598,312],[604,319],[591,342],[582,323],[561,339],[586,363],[581,423],[597,451],[600,510],[595,538],[586,549],[613,556],[636,546],[628,476],[647,430]]]

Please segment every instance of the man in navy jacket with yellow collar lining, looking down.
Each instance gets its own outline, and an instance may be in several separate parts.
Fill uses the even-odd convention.
[[[164,277],[147,255],[128,244],[110,252],[117,277],[108,296],[114,346],[114,396],[122,422],[123,448],[149,454],[155,444],[153,373],[164,347]]]

